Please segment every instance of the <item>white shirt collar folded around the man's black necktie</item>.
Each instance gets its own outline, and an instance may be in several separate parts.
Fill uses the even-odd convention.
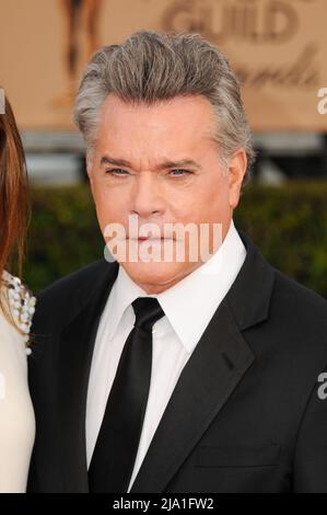
[[[214,311],[234,283],[246,249],[233,220],[219,250],[202,265],[157,295],[148,295],[119,266],[110,295],[110,336],[137,297],[155,297],[188,353],[191,353]],[[160,321],[159,321],[160,322]]]

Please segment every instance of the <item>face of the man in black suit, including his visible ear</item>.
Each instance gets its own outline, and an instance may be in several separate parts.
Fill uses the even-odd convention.
[[[139,228],[155,224],[161,237],[165,224],[183,227],[194,224],[197,229],[200,224],[211,229],[213,224],[221,224],[222,240],[229,230],[240,198],[246,157],[244,150],[237,151],[229,170],[224,170],[212,140],[213,130],[211,105],[201,95],[178,96],[147,106],[125,103],[109,94],[102,107],[87,170],[97,217],[103,233],[106,226],[120,224],[127,244],[133,244],[133,250],[140,250],[141,245],[144,250],[145,244],[149,253],[156,255],[152,261],[132,262],[129,254],[126,261],[118,259],[148,294],[170,288],[202,261],[200,253],[196,261],[189,258],[190,242],[188,238],[182,241],[182,232],[170,234],[166,240],[135,239],[140,232],[130,232],[130,215],[135,215]],[[208,242],[212,253],[217,247],[210,229]],[[184,245],[185,259],[165,261],[164,244],[173,245],[174,252],[177,245],[178,250]]]

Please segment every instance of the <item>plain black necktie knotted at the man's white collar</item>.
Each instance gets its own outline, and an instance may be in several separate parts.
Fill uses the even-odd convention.
[[[156,298],[132,302],[126,340],[89,469],[90,492],[127,492],[139,447],[152,366],[152,325],[164,312]]]

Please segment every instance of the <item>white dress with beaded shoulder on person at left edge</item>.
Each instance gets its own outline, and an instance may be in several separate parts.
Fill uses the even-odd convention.
[[[20,279],[3,273],[2,298],[10,291],[11,312],[23,336],[0,310],[0,492],[25,492],[35,436],[35,419],[27,385],[26,340],[34,297]]]

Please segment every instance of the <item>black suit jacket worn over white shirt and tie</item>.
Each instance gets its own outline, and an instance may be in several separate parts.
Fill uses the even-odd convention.
[[[132,493],[327,492],[327,302],[240,234],[246,260],[182,371]],[[117,272],[100,261],[38,296],[30,492],[87,492],[87,382]]]

